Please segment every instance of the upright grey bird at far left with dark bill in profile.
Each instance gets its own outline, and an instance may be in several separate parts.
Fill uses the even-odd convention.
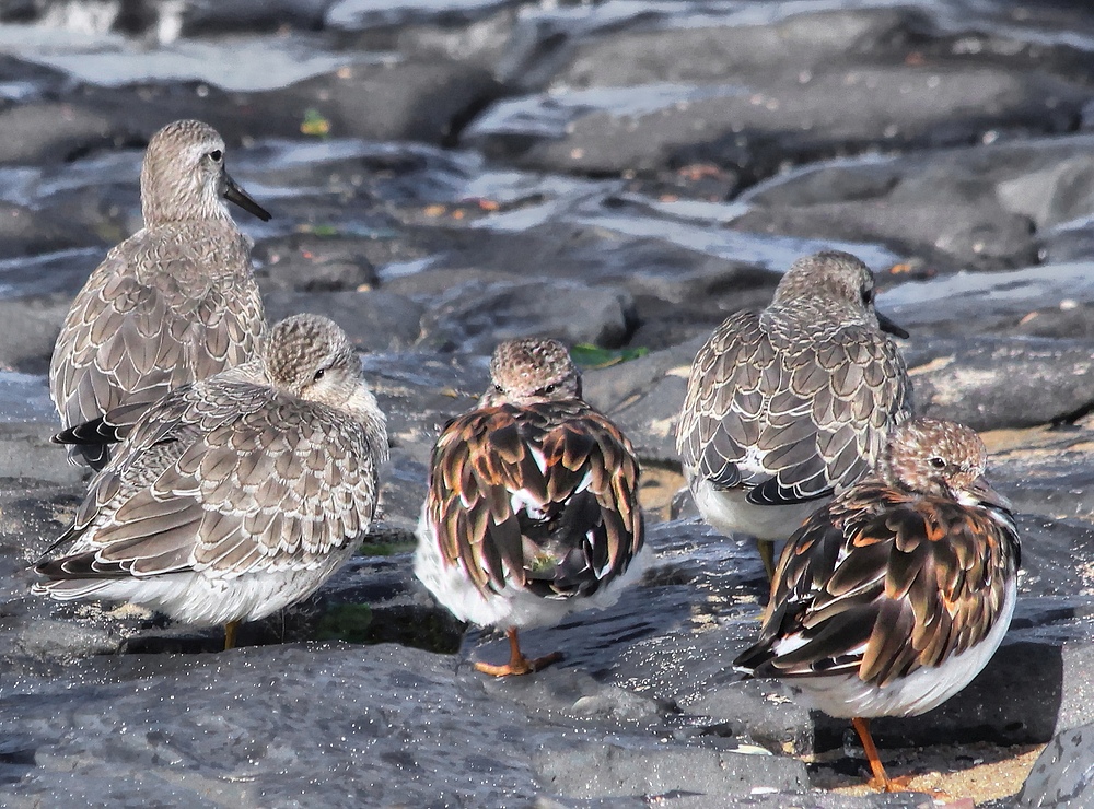
[[[266,330],[252,242],[223,200],[270,214],[224,171],[217,131],[196,120],[161,129],[140,188],[144,227],[91,273],[54,347],[49,394],[65,429],[238,365]],[[70,457],[101,469],[108,450],[84,443]]]

